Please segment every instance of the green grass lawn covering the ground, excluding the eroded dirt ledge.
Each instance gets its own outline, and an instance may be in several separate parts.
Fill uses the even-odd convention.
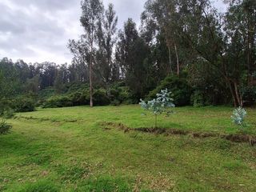
[[[234,134],[229,107],[181,107],[159,127]],[[0,136],[0,191],[256,191],[256,148],[226,139],[106,129],[150,127],[139,106],[38,109]],[[247,133],[256,134],[248,109]]]

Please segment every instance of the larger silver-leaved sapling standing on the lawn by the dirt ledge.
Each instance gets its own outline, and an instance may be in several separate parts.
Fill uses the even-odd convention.
[[[170,98],[171,92],[166,90],[161,90],[160,93],[158,93],[156,96],[157,98],[154,98],[151,101],[145,102],[142,99],[140,100],[139,104],[142,106],[142,109],[144,110],[150,110],[154,116],[154,127],[157,126],[157,120],[158,120],[158,114],[166,113],[169,115],[172,113],[170,110],[171,107],[174,107],[174,99]]]

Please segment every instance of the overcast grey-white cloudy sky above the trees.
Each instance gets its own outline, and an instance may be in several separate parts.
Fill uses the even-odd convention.
[[[215,0],[221,1],[221,0]],[[70,38],[82,33],[81,0],[0,0],[0,58],[25,62],[70,63]],[[118,14],[118,28],[127,18],[139,23],[146,0],[103,0]],[[221,6],[219,6],[221,8]],[[222,9],[222,8],[221,8]]]

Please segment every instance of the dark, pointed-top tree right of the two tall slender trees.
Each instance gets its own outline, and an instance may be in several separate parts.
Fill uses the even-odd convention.
[[[123,30],[118,33],[115,56],[122,72],[122,79],[126,80],[126,84],[134,91],[137,98],[146,94],[146,89],[150,85],[149,53],[149,46],[139,36],[136,23],[129,18]]]

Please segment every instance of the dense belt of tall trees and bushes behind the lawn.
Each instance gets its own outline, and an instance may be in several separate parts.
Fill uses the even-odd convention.
[[[148,0],[141,24],[118,30],[114,5],[83,0],[84,33],[67,42],[71,64],[0,60],[0,105],[119,105],[172,91],[176,106],[256,101],[256,1]],[[74,37],[76,38],[76,37]],[[22,105],[22,106],[21,106]]]

